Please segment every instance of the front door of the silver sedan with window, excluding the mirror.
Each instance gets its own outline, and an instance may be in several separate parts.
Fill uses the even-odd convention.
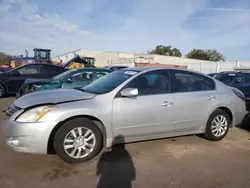
[[[125,88],[137,88],[136,97],[117,94],[113,101],[114,136],[138,137],[174,132],[174,102],[168,71],[139,75]]]

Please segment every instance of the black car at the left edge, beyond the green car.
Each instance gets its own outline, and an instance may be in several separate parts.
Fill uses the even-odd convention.
[[[16,94],[28,78],[51,78],[64,72],[65,68],[53,64],[27,64],[0,74],[0,98]]]

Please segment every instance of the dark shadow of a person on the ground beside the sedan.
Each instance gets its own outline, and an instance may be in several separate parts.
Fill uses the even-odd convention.
[[[124,143],[124,137],[118,136],[115,141]],[[136,178],[132,157],[124,144],[114,145],[111,151],[100,156],[96,174],[100,177],[97,188],[131,188]]]

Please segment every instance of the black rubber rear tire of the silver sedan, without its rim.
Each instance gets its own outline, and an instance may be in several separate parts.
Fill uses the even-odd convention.
[[[220,137],[216,137],[214,136],[214,134],[212,133],[212,121],[214,120],[215,117],[222,115],[227,119],[228,125],[227,125],[227,130],[225,132],[224,135],[220,136]],[[230,127],[230,117],[229,115],[221,109],[215,110],[209,117],[208,121],[207,121],[207,125],[206,125],[206,132],[205,132],[205,136],[207,137],[207,139],[211,140],[211,141],[218,141],[218,140],[222,140],[228,133],[229,131],[229,127]]]

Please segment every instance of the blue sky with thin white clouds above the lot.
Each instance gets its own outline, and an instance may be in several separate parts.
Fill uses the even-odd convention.
[[[250,0],[0,0],[0,51],[8,54],[146,53],[156,45],[249,61]]]

